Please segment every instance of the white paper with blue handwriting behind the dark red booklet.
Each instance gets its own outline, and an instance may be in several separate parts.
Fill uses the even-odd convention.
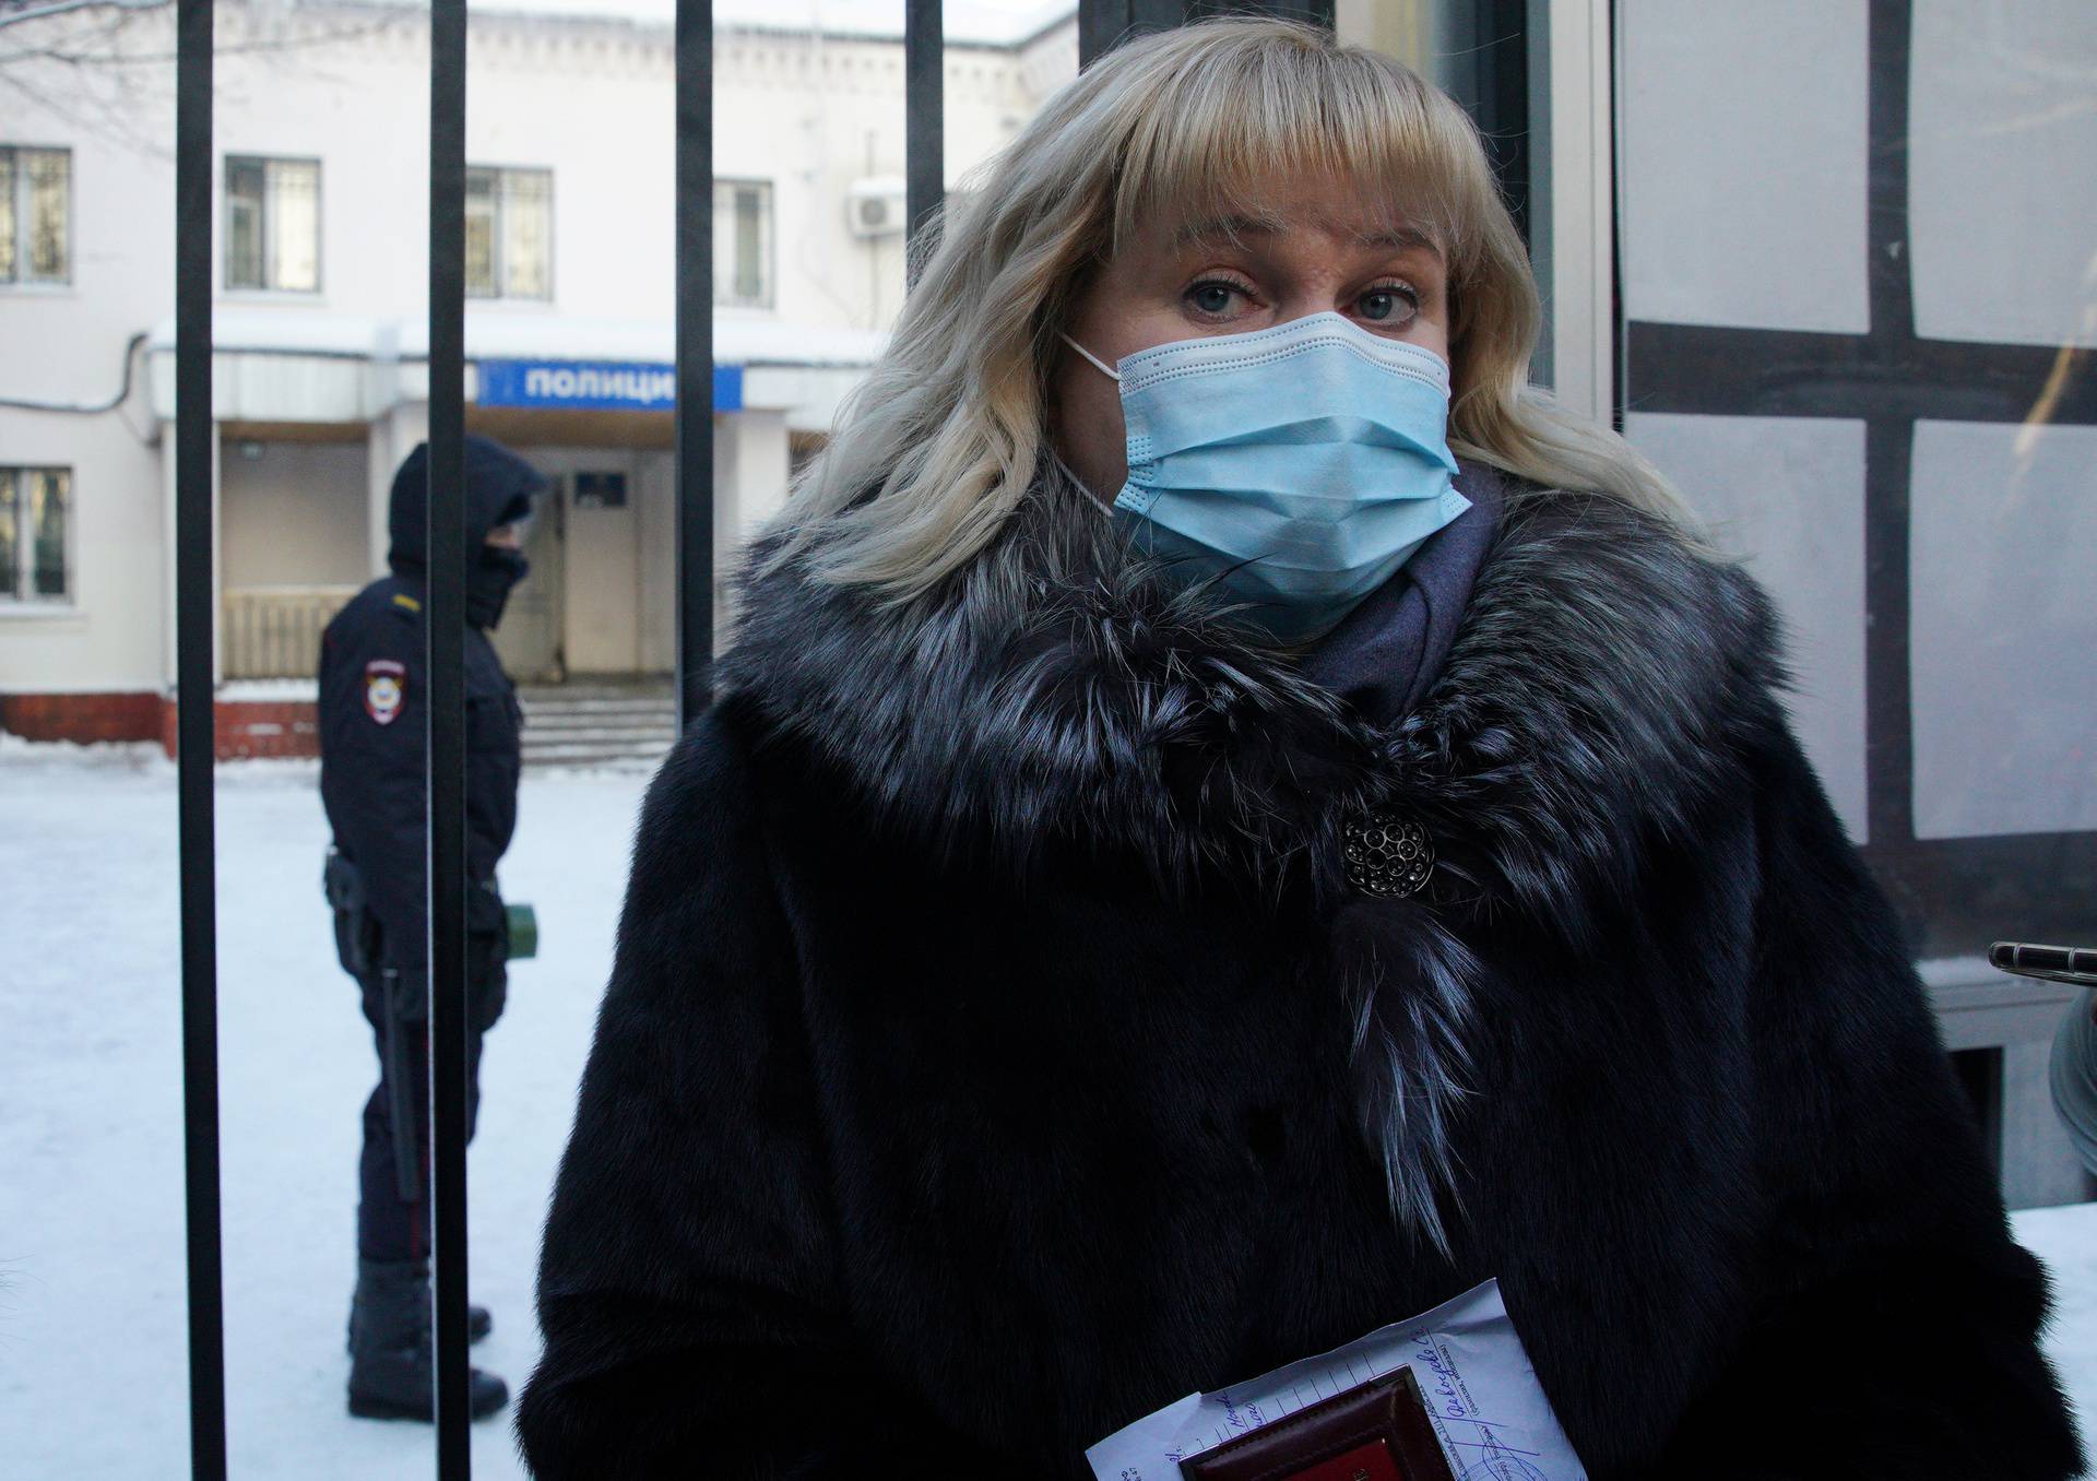
[[[1250,1435],[1399,1366],[1413,1370],[1457,1481],[1587,1481],[1537,1387],[1497,1280],[1264,1378],[1189,1393],[1116,1431],[1084,1458],[1099,1481],[1181,1481],[1183,1456]]]

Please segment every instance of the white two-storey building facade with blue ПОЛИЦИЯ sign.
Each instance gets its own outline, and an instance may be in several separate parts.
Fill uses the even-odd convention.
[[[715,6],[723,558],[904,294],[900,31],[803,10],[833,25]],[[1074,13],[950,17],[950,185],[1076,73]],[[428,23],[247,0],[218,38],[218,671],[296,682],[426,434]],[[138,61],[172,6],[107,46],[86,92],[0,73],[0,728],[71,738],[159,734],[174,678],[172,67]],[[556,480],[499,631],[520,678],[673,665],[673,145],[667,23],[474,13],[468,428]]]

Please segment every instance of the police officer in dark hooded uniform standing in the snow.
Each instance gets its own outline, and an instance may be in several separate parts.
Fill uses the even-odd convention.
[[[344,967],[363,988],[377,1036],[380,1085],[365,1103],[359,1162],[356,1294],[350,1301],[350,1414],[432,1418],[428,969],[424,881],[424,757],[430,682],[428,445],[394,474],[386,562],[321,638],[321,801],[336,835],[327,894]],[[518,799],[522,711],[489,629],[524,579],[522,531],[545,489],[524,459],[484,436],[466,438],[468,529],[480,539],[466,577],[466,868],[468,1137],[480,1101],[480,1036],[503,1011],[507,929],[495,862],[510,845]],[[478,1340],[489,1313],[474,1307]],[[472,1374],[474,1418],[510,1391]]]

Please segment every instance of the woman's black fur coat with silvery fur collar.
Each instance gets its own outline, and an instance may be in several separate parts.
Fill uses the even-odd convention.
[[[1059,482],[916,606],[749,585],[633,852],[539,1477],[1086,1477],[1487,1275],[1598,1481],[2078,1471],[1745,573],[1531,491],[1388,732],[1204,602]],[[1422,894],[1348,889],[1367,806]]]

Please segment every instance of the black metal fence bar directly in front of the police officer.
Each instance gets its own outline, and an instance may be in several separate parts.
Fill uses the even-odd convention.
[[[472,1475],[466,1359],[466,0],[430,6],[430,1246],[436,1475]],[[474,531],[472,535],[478,535]]]

